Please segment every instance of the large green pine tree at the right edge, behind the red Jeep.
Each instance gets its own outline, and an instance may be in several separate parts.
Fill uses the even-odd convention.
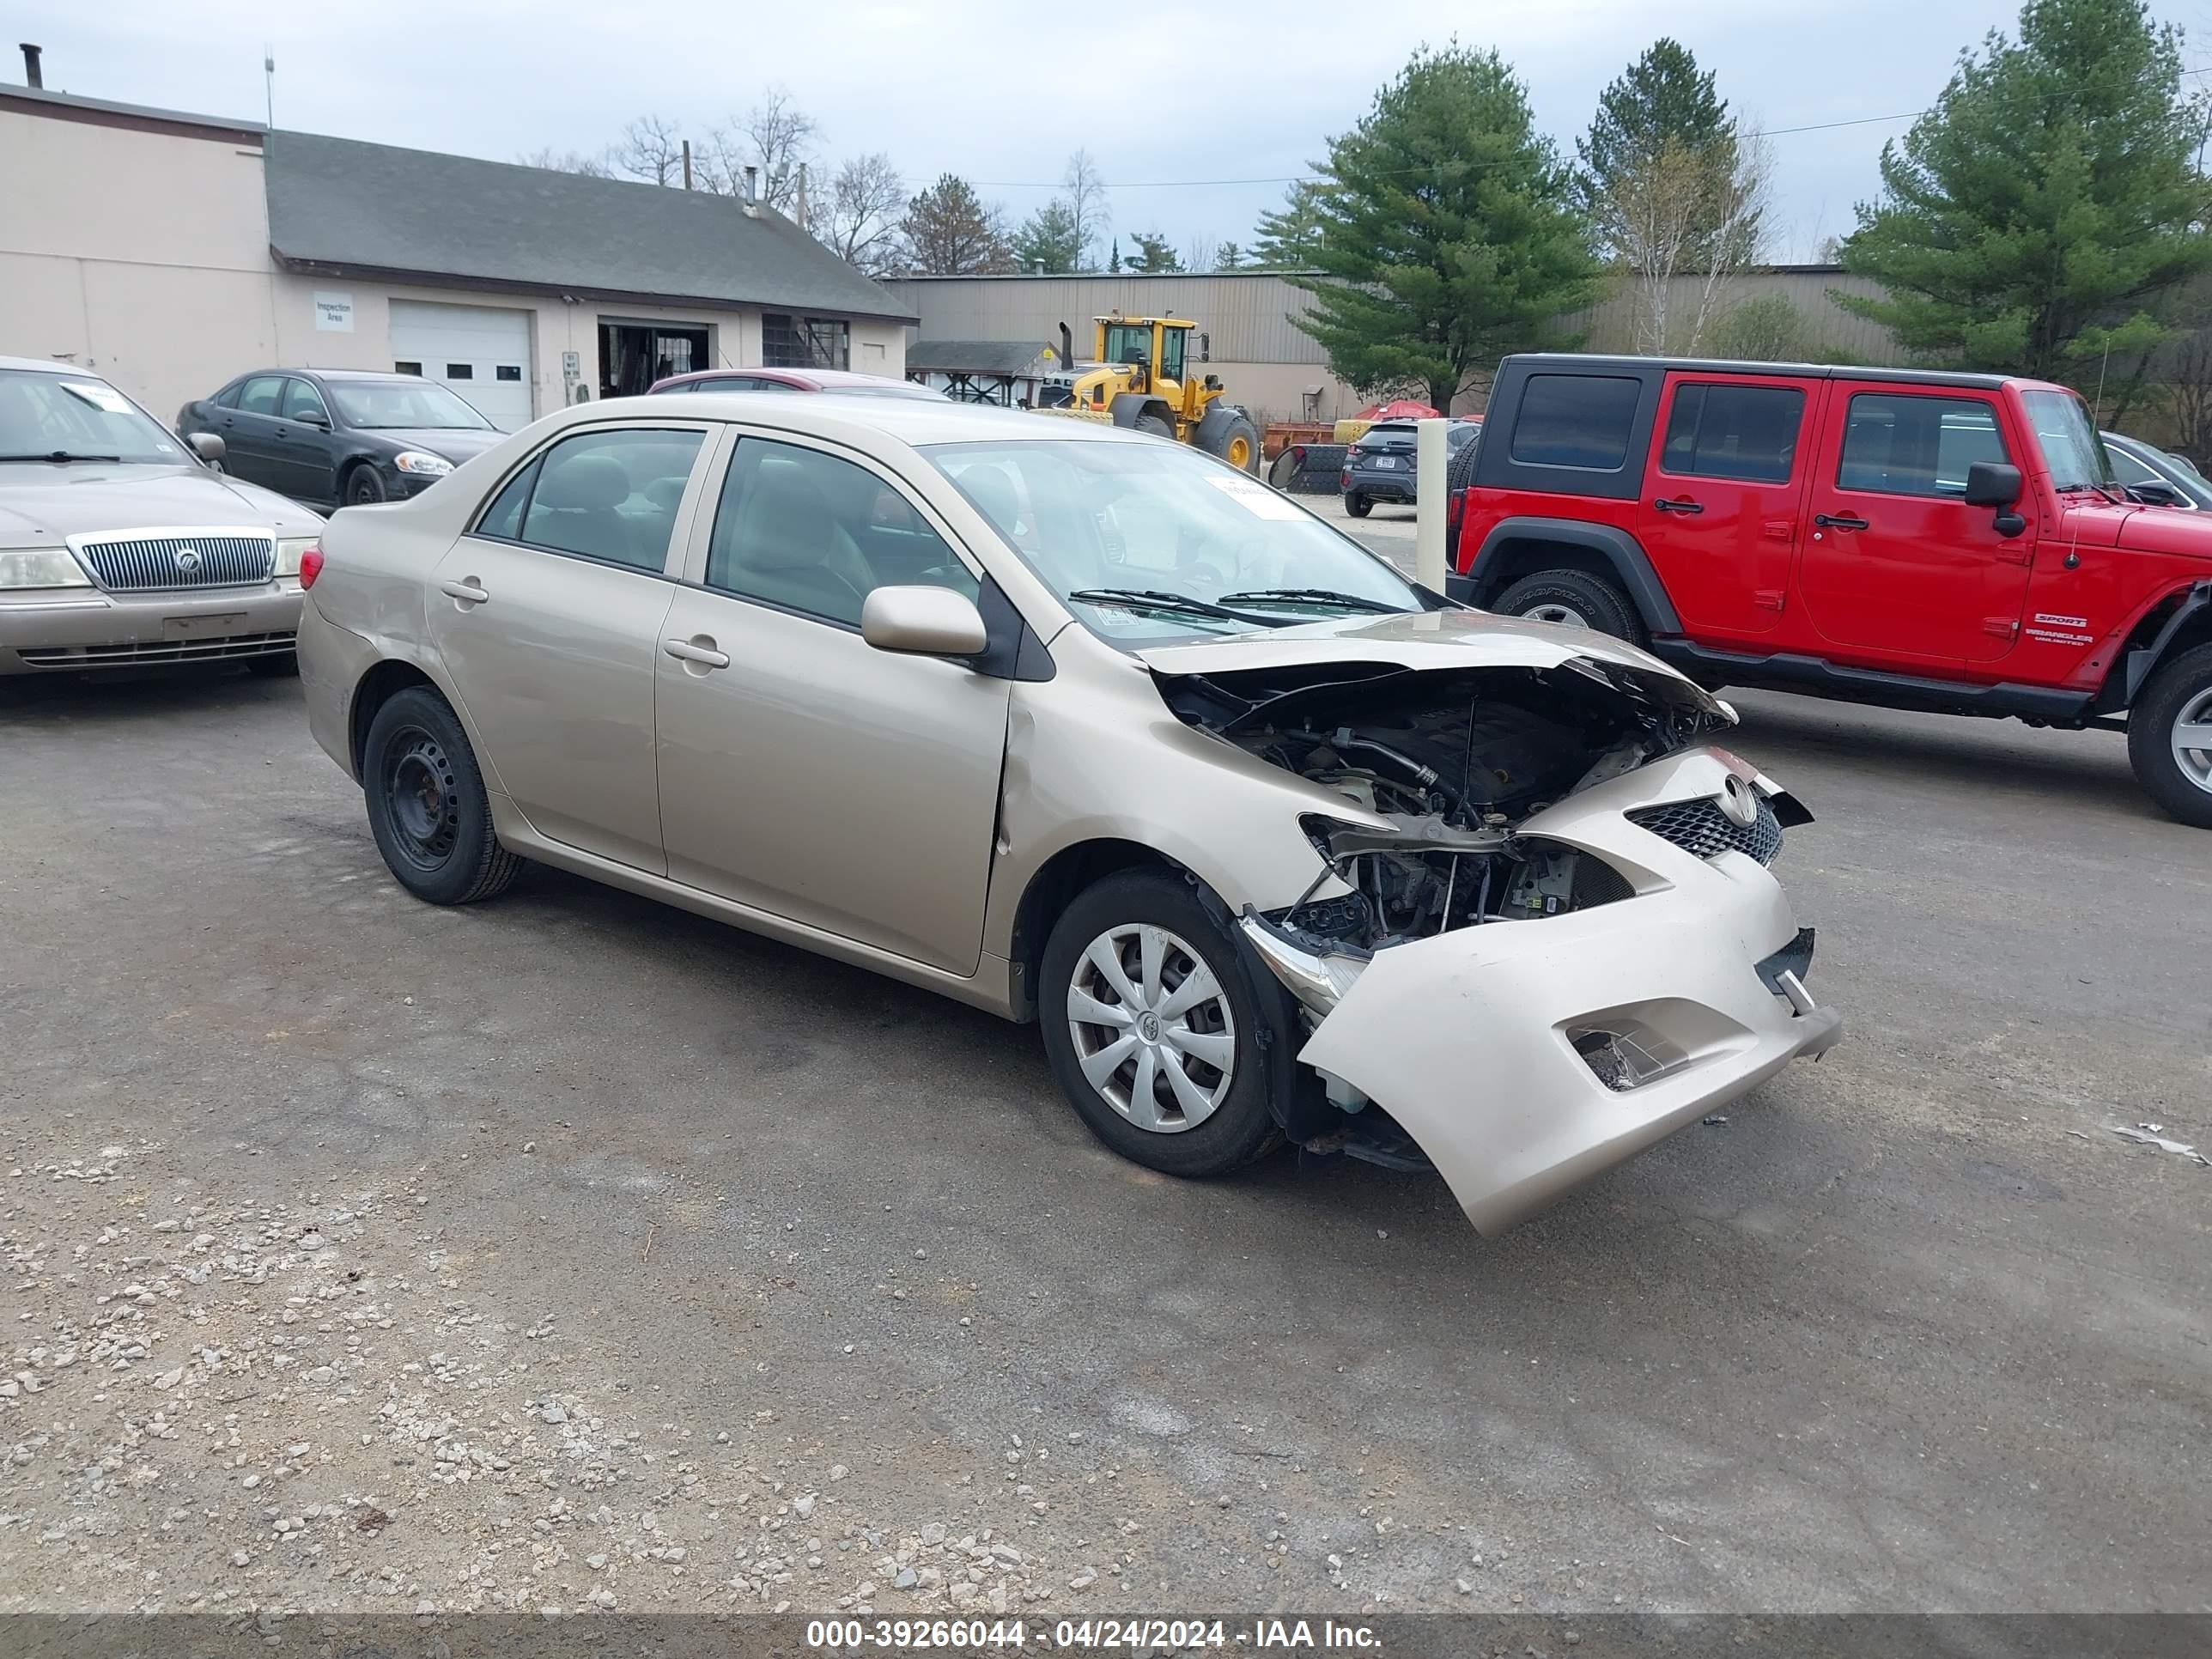
[[[1936,106],[1882,146],[1882,197],[1860,204],[1843,263],[1889,296],[1836,301],[1949,365],[2139,367],[2168,332],[2159,296],[2212,265],[2203,137],[2179,29],[2141,0],[2028,0],[2020,40],[1960,53]]]

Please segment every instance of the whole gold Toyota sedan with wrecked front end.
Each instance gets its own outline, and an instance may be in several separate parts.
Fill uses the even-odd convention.
[[[1725,703],[1159,438],[597,403],[303,577],[314,737],[411,894],[538,858],[1035,1020],[1155,1170],[1290,1139],[1493,1232],[1840,1031]]]

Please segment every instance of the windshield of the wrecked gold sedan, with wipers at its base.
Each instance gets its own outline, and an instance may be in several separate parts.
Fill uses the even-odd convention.
[[[1046,438],[922,453],[1091,633],[1119,646],[1425,608],[1358,542],[1190,449]]]

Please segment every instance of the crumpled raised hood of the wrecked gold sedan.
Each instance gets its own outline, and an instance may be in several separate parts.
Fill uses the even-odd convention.
[[[1157,675],[1223,675],[1241,668],[1292,668],[1318,661],[1383,661],[1402,668],[1557,668],[1577,657],[1681,679],[1650,653],[1588,628],[1493,617],[1489,611],[1464,608],[1411,611],[1389,617],[1332,617],[1296,628],[1254,628],[1230,639],[1192,639],[1181,646],[1152,646],[1137,653],[1137,661]]]

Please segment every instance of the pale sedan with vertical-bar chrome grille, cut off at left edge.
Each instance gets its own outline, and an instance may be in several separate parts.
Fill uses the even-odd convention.
[[[0,356],[0,675],[243,661],[292,672],[323,520],[215,469],[88,369]]]

